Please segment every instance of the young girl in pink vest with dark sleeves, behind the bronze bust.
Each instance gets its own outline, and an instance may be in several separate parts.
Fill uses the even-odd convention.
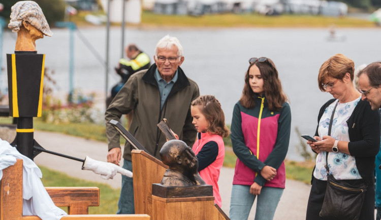
[[[219,101],[212,95],[196,98],[190,108],[198,134],[192,150],[199,161],[199,173],[205,183],[213,186],[214,203],[221,207],[217,181],[225,158],[223,137],[230,133]]]

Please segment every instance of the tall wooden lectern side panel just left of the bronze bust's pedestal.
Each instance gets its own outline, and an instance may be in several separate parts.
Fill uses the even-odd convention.
[[[152,184],[162,181],[168,166],[141,150],[132,151],[135,213],[152,216]]]

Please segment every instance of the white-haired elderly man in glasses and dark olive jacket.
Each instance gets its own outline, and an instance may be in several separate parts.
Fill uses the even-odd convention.
[[[133,110],[129,131],[155,157],[166,142],[166,137],[156,126],[166,118],[172,130],[188,146],[192,146],[197,131],[192,124],[190,103],[200,95],[199,87],[187,78],[180,65],[184,61],[182,46],[177,38],[164,36],[155,48],[155,63],[148,70],[132,75],[106,110],[108,138],[107,162],[119,165],[121,149],[119,134],[108,123]],[[126,141],[123,168],[132,171],[131,144]],[[133,180],[122,176],[122,186],[117,214],[134,213]]]

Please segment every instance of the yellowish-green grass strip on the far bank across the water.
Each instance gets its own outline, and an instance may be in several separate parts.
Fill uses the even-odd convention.
[[[78,26],[88,26],[85,16],[91,12],[80,11],[71,21]],[[94,13],[103,14],[104,12]],[[279,15],[263,16],[257,13],[224,13],[206,14],[203,16],[162,15],[150,11],[142,11],[140,24],[127,24],[138,27],[324,27],[332,24],[336,27],[374,27],[374,22],[353,17],[325,17],[314,15]],[[118,23],[112,25],[119,26]]]

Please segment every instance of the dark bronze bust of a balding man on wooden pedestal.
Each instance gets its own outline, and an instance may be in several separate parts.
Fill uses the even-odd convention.
[[[167,141],[160,150],[160,158],[169,166],[161,185],[173,187],[205,185],[198,172],[197,157],[184,141]]]

